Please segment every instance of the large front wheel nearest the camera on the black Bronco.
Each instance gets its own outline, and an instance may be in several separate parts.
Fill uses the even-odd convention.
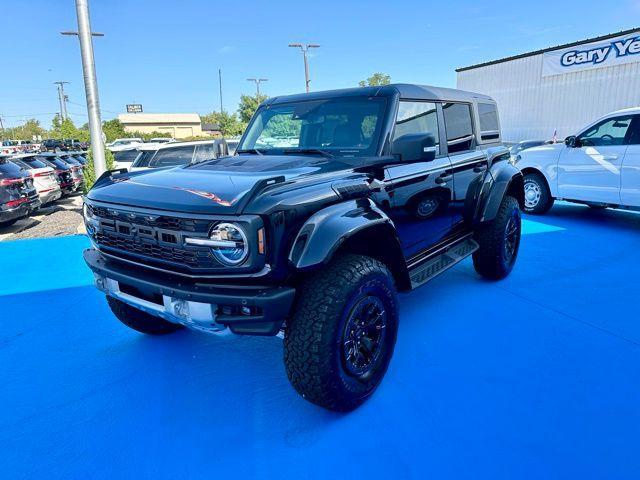
[[[398,296],[384,264],[343,255],[301,287],[284,339],[293,387],[310,402],[349,411],[373,394],[398,331]]]

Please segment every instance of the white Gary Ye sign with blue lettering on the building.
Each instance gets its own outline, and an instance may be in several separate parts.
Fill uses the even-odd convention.
[[[632,62],[640,62],[638,34],[545,52],[542,57],[542,76],[548,77]]]

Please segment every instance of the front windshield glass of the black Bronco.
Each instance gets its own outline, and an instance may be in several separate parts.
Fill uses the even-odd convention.
[[[386,104],[380,97],[343,97],[263,107],[238,152],[322,150],[345,157],[375,155]]]

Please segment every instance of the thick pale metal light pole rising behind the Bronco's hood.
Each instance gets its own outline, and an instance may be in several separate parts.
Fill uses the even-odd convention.
[[[62,35],[77,35],[80,39],[80,54],[82,57],[84,90],[87,97],[93,167],[96,172],[96,178],[98,178],[107,170],[107,166],[104,158],[100,99],[98,98],[98,81],[96,78],[96,65],[93,58],[93,39],[91,37],[102,37],[104,34],[91,32],[88,0],[76,0],[76,15],[78,16],[78,31],[62,32]]]

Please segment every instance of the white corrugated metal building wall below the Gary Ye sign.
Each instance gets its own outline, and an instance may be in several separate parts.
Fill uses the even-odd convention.
[[[542,54],[458,72],[458,88],[498,103],[505,141],[574,135],[614,110],[640,106],[640,62],[542,76]]]

